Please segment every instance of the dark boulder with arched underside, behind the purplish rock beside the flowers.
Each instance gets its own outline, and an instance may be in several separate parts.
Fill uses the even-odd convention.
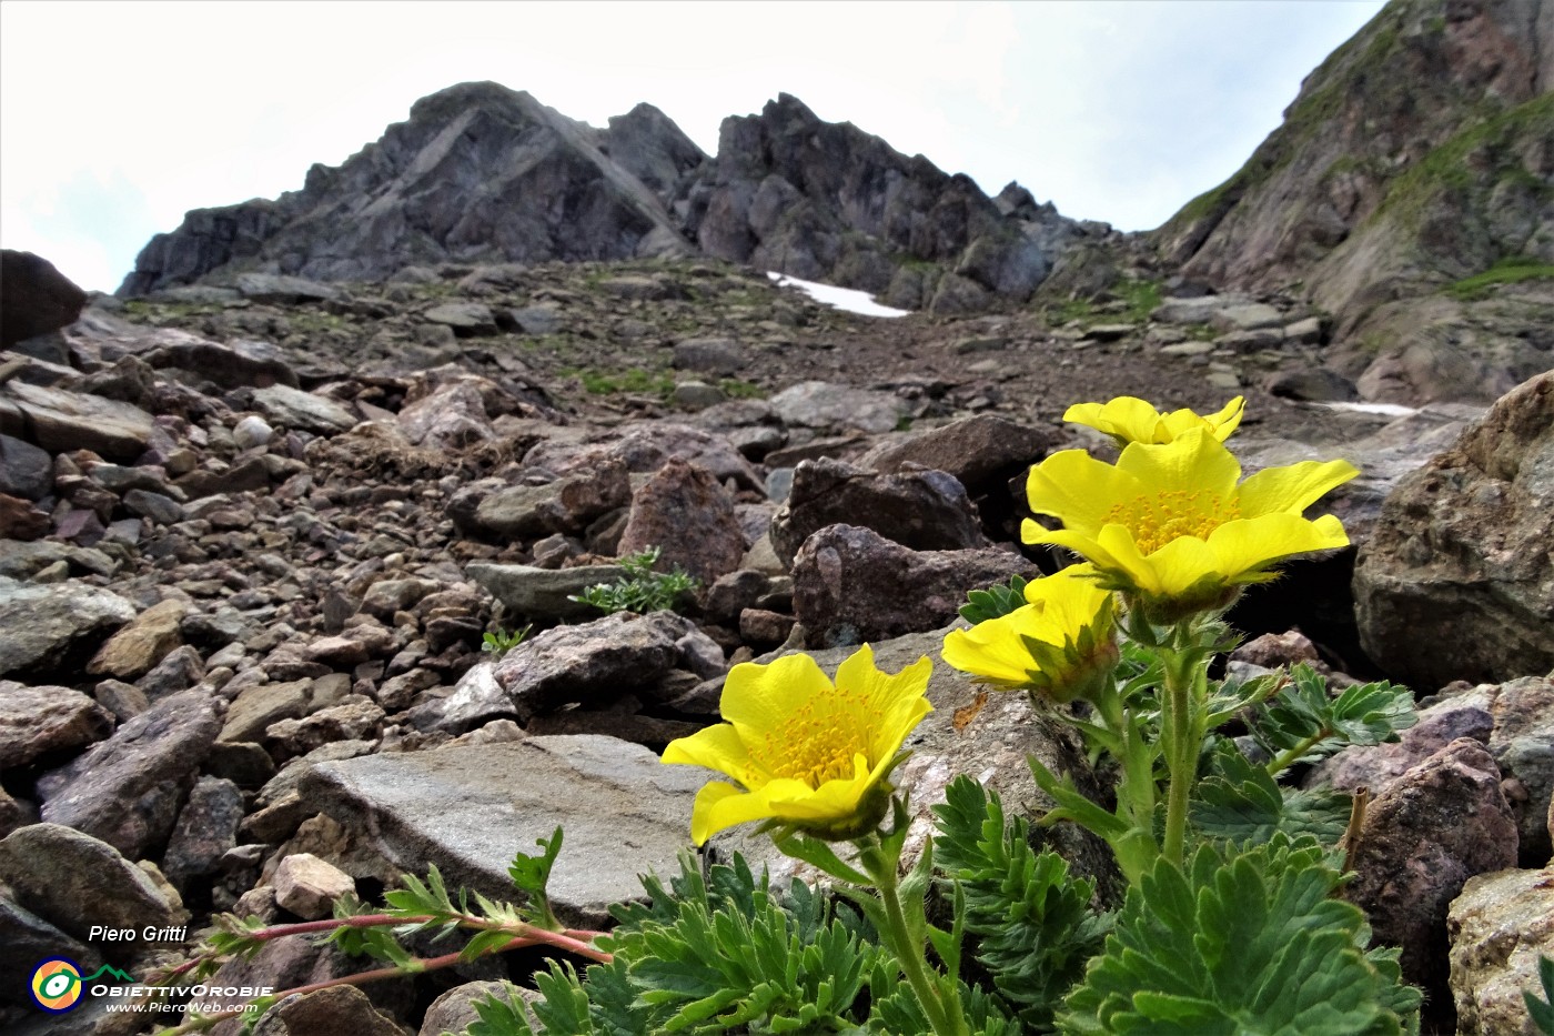
[[[990,544],[976,504],[953,474],[875,474],[844,460],[822,459],[794,468],[788,501],[772,518],[772,549],[779,560],[791,563],[813,532],[838,523],[867,526],[914,551]]]

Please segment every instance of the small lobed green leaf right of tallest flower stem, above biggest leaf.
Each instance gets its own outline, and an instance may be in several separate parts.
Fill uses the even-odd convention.
[[[1220,740],[1209,776],[1192,800],[1192,824],[1207,838],[1268,842],[1276,831],[1338,845],[1349,823],[1349,796],[1330,789],[1282,789],[1234,742]]]

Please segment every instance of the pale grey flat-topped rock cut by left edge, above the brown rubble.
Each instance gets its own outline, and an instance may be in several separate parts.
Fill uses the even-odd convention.
[[[37,585],[0,577],[0,677],[53,664],[81,638],[134,618],[131,602],[76,580]]]

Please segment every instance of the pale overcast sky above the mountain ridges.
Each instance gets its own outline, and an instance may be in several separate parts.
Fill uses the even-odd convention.
[[[190,208],[275,198],[469,79],[709,154],[779,92],[990,194],[1125,230],[1234,173],[1380,0],[0,2],[0,244],[112,291]]]

